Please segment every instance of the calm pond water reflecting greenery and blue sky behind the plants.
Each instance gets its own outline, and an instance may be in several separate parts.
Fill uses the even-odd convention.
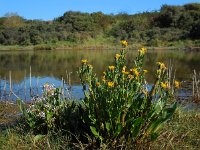
[[[64,86],[66,94],[73,98],[83,97],[77,70],[82,59],[88,59],[94,66],[98,76],[112,65],[118,50],[51,50],[51,51],[0,51],[0,100],[15,99],[12,91],[22,99],[30,100],[30,82],[32,95],[41,95],[42,85],[46,82],[56,87]],[[127,53],[127,65],[133,67],[137,50]],[[200,71],[200,53],[183,50],[151,50],[145,58],[145,69],[149,70],[147,81],[153,82],[156,62],[162,61],[167,66],[172,65],[176,79],[180,81],[191,79],[195,69]],[[31,66],[31,67],[30,67]],[[31,81],[30,81],[31,68]],[[69,79],[70,74],[70,79]],[[11,82],[10,82],[11,77]],[[63,79],[63,80],[62,80]],[[64,84],[70,82],[72,86]]]

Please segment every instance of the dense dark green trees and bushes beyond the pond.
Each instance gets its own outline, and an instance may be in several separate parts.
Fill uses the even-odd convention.
[[[67,11],[52,21],[27,20],[18,15],[0,18],[1,45],[37,45],[68,41],[82,43],[104,38],[128,40],[145,45],[199,40],[200,4],[163,5],[160,11],[134,15]]]

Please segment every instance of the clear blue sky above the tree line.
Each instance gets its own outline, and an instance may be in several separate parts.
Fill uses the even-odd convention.
[[[52,20],[64,12],[81,11],[134,14],[159,10],[163,4],[183,5],[200,0],[0,0],[0,17],[16,12],[26,19]]]

